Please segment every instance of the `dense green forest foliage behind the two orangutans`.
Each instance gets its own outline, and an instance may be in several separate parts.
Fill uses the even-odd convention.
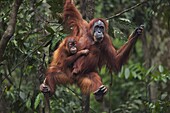
[[[108,18],[141,0],[95,0],[95,17]],[[10,18],[12,0],[0,1],[0,39]],[[79,6],[79,2],[77,2]],[[68,35],[62,23],[63,0],[24,0],[14,35],[0,62],[0,112],[40,113],[44,96],[39,85],[59,41]],[[168,113],[170,110],[170,1],[145,1],[109,19],[109,34],[119,48],[137,26],[144,24],[129,61],[120,73],[99,70],[109,88],[103,103],[90,98],[91,113]],[[110,85],[112,84],[112,85]],[[51,98],[52,113],[80,113],[77,86],[59,86]]]

